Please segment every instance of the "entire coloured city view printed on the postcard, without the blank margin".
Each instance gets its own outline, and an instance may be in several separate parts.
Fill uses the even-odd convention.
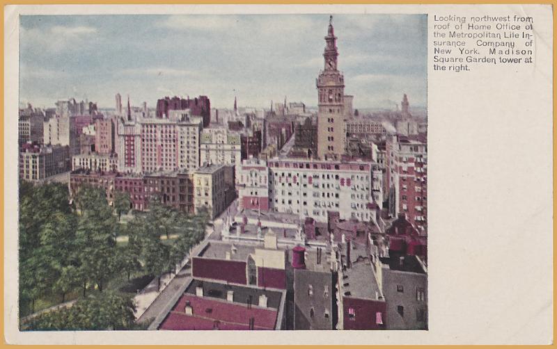
[[[20,331],[427,330],[427,15],[22,15],[18,120]]]

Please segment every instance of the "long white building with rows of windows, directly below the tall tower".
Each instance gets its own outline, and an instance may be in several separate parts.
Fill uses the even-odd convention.
[[[382,202],[382,172],[363,161],[269,161],[269,209],[327,222],[329,211],[341,219],[374,220]]]

